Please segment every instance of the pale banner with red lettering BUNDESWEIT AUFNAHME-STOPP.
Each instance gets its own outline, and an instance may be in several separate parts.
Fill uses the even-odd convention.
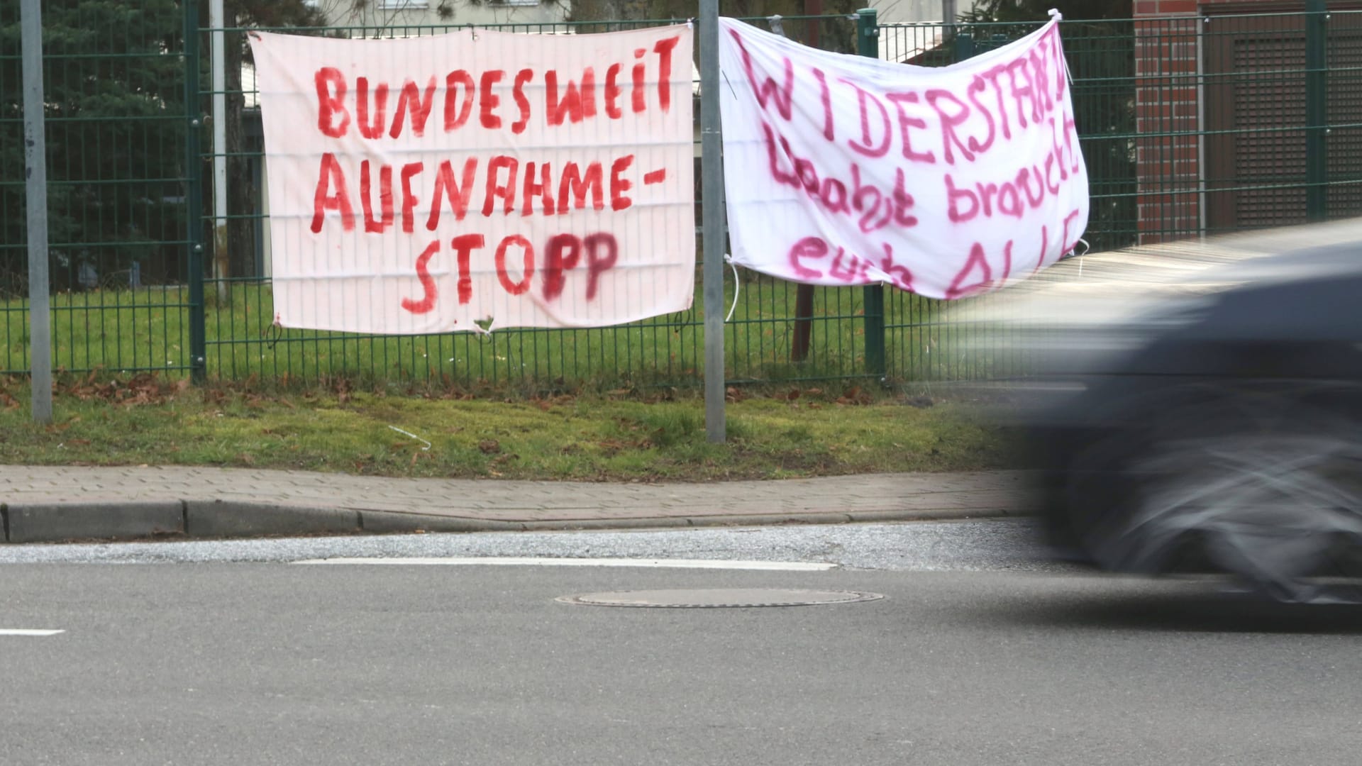
[[[689,26],[251,48],[276,324],[597,327],[691,307]]]

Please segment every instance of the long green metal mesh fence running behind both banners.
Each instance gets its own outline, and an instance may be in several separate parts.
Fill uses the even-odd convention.
[[[67,5],[78,4],[45,8],[56,368],[197,369],[208,379],[305,384],[340,376],[511,388],[701,382],[699,289],[691,311],[595,330],[369,337],[274,328],[260,194],[267,168],[249,67],[237,68],[240,82],[229,78],[226,89],[232,192],[227,214],[217,217],[211,142],[193,116],[208,113],[218,30],[170,0],[140,3],[140,15],[118,3],[79,4],[104,8],[99,18]],[[196,34],[187,38],[185,23]],[[669,22],[498,29],[565,34],[656,23]],[[783,34],[806,44],[918,65],[968,59],[1039,23],[779,20]],[[456,27],[287,31],[403,37],[448,29]],[[1362,214],[1362,12],[1066,20],[1061,29],[1091,180],[1094,251]],[[229,61],[238,60],[247,30],[221,31],[237,56]],[[18,93],[18,12],[0,8],[4,93]],[[196,94],[192,114],[185,89]],[[0,109],[0,372],[23,372],[22,116],[10,101]],[[199,159],[187,162],[187,153]],[[215,239],[219,224],[225,237]],[[729,271],[725,289],[734,382],[971,380],[1027,368],[1005,333],[971,322],[968,300],[885,288],[801,290],[745,271]]]

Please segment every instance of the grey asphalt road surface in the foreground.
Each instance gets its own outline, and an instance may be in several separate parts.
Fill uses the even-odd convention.
[[[789,532],[827,544],[832,530]],[[1357,612],[1062,571],[1024,547],[1002,556],[1017,533],[918,525],[902,534],[947,540],[952,553],[923,544],[898,566],[831,571],[4,564],[0,628],[64,632],[0,635],[0,763],[1357,761]],[[715,545],[667,534],[684,557]],[[823,559],[880,555],[849,549],[854,537]],[[595,536],[557,538],[599,555]],[[972,557],[968,538],[992,542]],[[729,587],[884,598],[557,600]]]

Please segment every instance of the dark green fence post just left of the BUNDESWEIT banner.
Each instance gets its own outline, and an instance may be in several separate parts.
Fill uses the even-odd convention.
[[[208,346],[203,319],[203,157],[199,150],[199,4],[184,4],[185,255],[189,270],[189,379],[203,383]]]

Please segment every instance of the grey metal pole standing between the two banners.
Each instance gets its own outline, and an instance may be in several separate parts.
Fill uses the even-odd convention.
[[[723,207],[723,134],[719,124],[719,0],[700,0],[700,180],[704,229],[704,429],[723,442],[723,254],[727,215]]]

